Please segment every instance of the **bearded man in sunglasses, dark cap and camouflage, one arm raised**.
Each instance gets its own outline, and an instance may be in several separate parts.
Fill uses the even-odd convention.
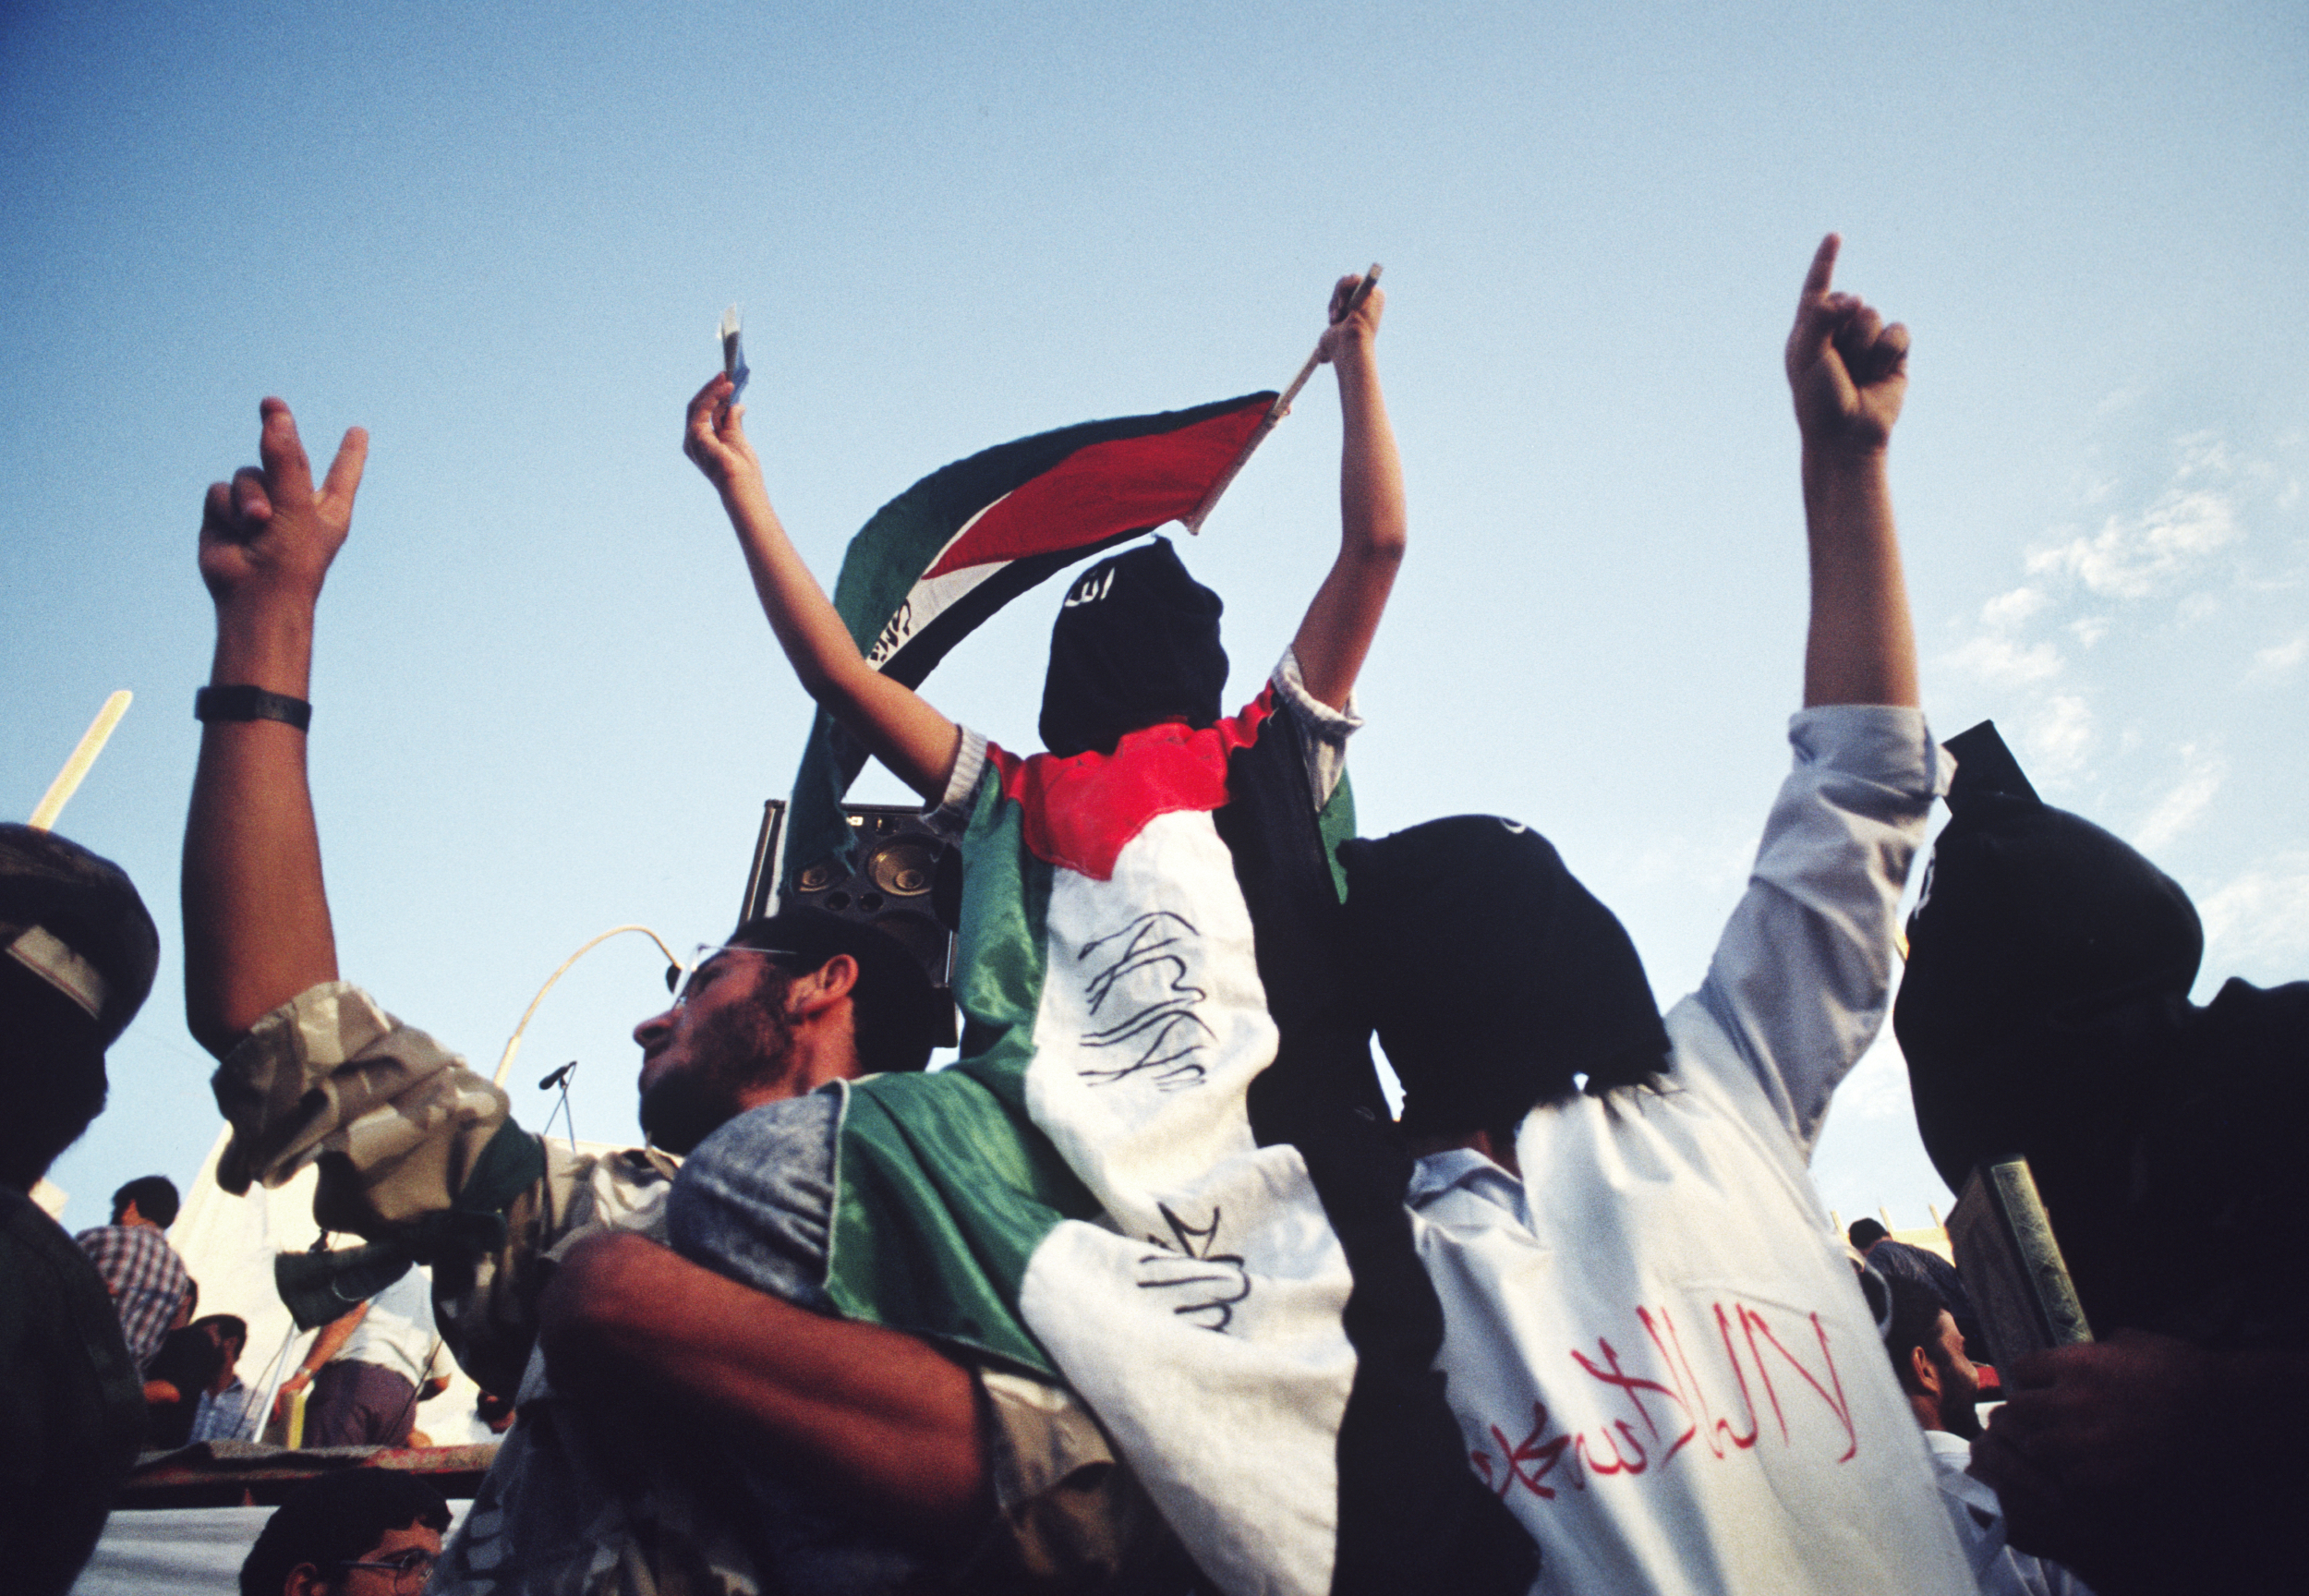
[[[316,1217],[372,1243],[291,1266],[305,1323],[425,1261],[459,1363],[515,1393],[436,1589],[1104,1589],[1143,1568],[1164,1531],[1071,1393],[813,1312],[820,1088],[931,1051],[935,1000],[896,942],[790,912],[700,949],[635,1030],[651,1146],[605,1157],[522,1132],[501,1090],[337,979],[305,693],[367,437],[316,487],[289,407],[261,416],[263,464],[212,485],[201,524],[217,654],[185,834],[187,1023],[233,1125],[219,1185],[319,1162]],[[713,1192],[677,1256],[658,1245],[674,1157],[725,1125],[748,1189]]]

